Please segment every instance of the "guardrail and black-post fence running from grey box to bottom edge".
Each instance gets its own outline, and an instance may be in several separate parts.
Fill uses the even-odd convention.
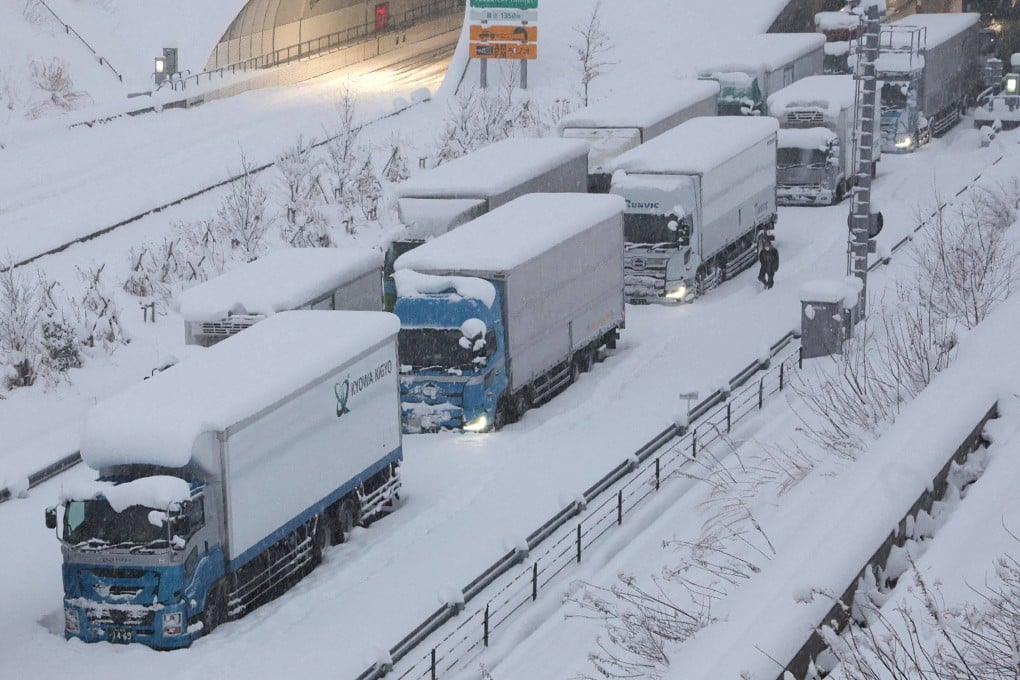
[[[581,498],[562,509],[527,537],[527,550],[508,552],[474,580],[464,586],[461,598],[441,607],[390,649],[386,663],[377,663],[358,676],[376,680],[394,671],[394,664],[440,633],[449,622],[455,628],[428,646],[428,652],[397,677],[436,680],[454,670],[476,651],[489,646],[497,629],[571,566],[579,564],[584,552],[620,526],[623,518],[655,494],[662,483],[676,476],[698,456],[698,452],[726,436],[733,425],[762,409],[769,397],[785,388],[790,371],[801,363],[800,352],[790,351],[775,365],[772,361],[795,342],[787,333],[771,348],[768,361],[749,364],[728,383],[700,402],[688,413],[692,427],[671,425],[593,484]],[[755,380],[755,378],[758,378]],[[734,391],[738,394],[734,395]],[[536,555],[537,548],[545,545]],[[525,567],[522,564],[528,562]],[[514,570],[518,570],[515,574]],[[486,590],[504,577],[503,585],[480,601]],[[465,607],[479,600],[467,616]]]

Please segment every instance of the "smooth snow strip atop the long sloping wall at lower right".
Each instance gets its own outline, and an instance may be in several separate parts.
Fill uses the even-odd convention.
[[[725,612],[713,610],[719,621],[670,655],[666,678],[775,678],[775,660],[793,659],[832,607],[826,595],[800,595],[843,593],[980,418],[1016,393],[1018,333],[1020,297],[965,336],[956,362],[851,470],[792,509],[803,518],[796,542],[777,545],[777,556],[733,592]]]

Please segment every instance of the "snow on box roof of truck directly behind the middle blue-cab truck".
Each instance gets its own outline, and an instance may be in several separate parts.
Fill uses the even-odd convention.
[[[400,182],[396,196],[487,198],[575,158],[586,161],[586,142],[559,138],[503,140]]]

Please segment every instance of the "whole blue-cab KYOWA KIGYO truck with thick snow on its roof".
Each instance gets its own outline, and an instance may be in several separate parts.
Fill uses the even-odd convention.
[[[397,317],[283,312],[95,406],[46,512],[64,636],[188,646],[393,508]]]

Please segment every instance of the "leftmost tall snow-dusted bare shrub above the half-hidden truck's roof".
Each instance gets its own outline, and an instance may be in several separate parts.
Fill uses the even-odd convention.
[[[231,182],[216,211],[217,227],[248,262],[265,251],[265,234],[271,225],[266,214],[269,197],[255,176],[255,166],[241,153],[240,176]]]

